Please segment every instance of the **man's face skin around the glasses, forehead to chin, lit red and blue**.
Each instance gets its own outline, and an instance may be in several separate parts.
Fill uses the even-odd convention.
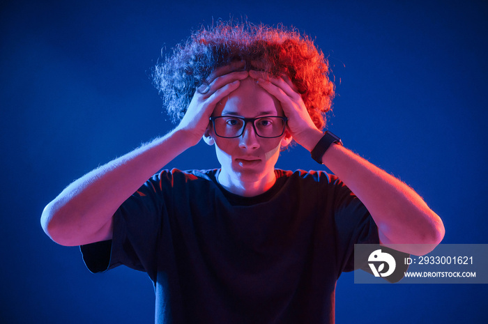
[[[284,114],[280,102],[248,77],[227,98],[219,102],[213,116],[256,118]],[[258,137],[252,124],[247,123],[240,137],[218,137],[213,129],[210,134],[215,140],[222,176],[233,183],[254,183],[270,178],[274,180],[275,164],[286,133],[271,139]]]

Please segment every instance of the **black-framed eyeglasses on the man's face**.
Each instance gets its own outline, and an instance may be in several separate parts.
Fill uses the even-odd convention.
[[[259,137],[273,139],[284,133],[288,118],[282,116],[264,116],[258,118],[243,118],[236,116],[211,117],[213,130],[218,137],[233,139],[240,137],[245,130],[247,123],[252,123],[254,132]]]

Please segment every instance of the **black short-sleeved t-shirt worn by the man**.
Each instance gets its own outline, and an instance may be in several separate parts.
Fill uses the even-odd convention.
[[[116,211],[111,241],[82,246],[87,267],[147,272],[156,323],[334,323],[354,244],[379,243],[363,203],[323,171],[277,169],[254,197],[218,172],[155,174]]]

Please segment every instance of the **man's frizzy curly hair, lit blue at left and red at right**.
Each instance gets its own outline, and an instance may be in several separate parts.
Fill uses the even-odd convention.
[[[155,87],[174,123],[183,118],[195,90],[211,72],[233,61],[245,61],[246,70],[273,77],[288,75],[312,121],[320,130],[325,127],[335,90],[321,50],[296,29],[232,21],[201,27],[153,69]]]

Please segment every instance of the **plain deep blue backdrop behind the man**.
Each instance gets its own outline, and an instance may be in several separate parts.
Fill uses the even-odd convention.
[[[149,77],[200,24],[296,26],[328,56],[329,128],[399,176],[445,224],[488,243],[487,1],[3,1],[0,28],[0,321],[152,323],[153,288],[120,267],[91,275],[49,240],[44,206],[68,183],[172,125]],[[167,167],[218,167],[199,143]],[[317,169],[303,148],[277,167]],[[488,271],[488,270],[487,270]],[[337,283],[337,323],[487,323],[487,286]]]

